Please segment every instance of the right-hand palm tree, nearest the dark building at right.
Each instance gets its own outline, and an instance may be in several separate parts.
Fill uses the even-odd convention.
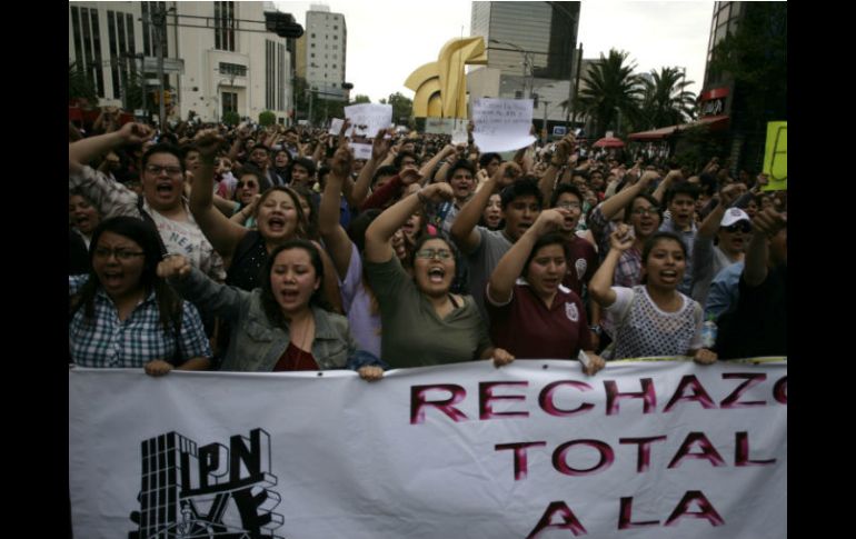
[[[645,93],[639,130],[677,126],[695,118],[696,94],[686,91],[694,82],[685,80],[678,68],[651,70],[650,80],[644,80]]]

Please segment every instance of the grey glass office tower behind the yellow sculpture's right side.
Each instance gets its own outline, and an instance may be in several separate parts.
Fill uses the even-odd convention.
[[[472,2],[470,34],[488,63],[467,76],[470,98],[532,98],[536,124],[564,122],[573,94],[579,2]]]

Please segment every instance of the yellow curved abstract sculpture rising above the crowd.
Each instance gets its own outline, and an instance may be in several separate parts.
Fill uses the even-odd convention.
[[[416,92],[414,116],[417,118],[467,118],[467,79],[464,66],[487,63],[485,39],[449,40],[436,62],[426,63],[405,81]]]

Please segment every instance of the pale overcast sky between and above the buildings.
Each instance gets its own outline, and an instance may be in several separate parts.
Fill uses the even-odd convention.
[[[358,93],[378,102],[401,92],[407,77],[451,38],[469,36],[471,2],[460,0],[328,0],[275,2],[306,26],[309,6],[321,3],[342,13],[348,27],[346,79]],[[599,58],[610,48],[626,50],[636,72],[661,67],[687,70],[689,90],[698,93],[705,76],[713,1],[584,1],[577,43],[583,57]]]

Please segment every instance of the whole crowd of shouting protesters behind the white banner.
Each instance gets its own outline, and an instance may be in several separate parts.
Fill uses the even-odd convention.
[[[376,380],[787,356],[787,191],[764,174],[573,134],[504,160],[381,130],[360,160],[347,127],[70,124],[71,362]]]

